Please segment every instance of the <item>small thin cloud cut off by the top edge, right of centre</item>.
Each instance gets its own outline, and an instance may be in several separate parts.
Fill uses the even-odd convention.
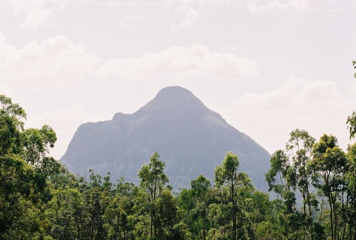
[[[269,9],[294,9],[296,11],[316,7],[320,0],[249,0],[247,9],[250,12],[261,12]]]

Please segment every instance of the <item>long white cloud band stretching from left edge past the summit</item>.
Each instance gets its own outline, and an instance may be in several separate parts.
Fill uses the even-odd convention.
[[[4,39],[4,37],[2,37]],[[148,52],[135,58],[103,60],[68,37],[16,48],[0,41],[0,83],[22,88],[67,88],[84,81],[240,81],[258,76],[257,63],[199,43]]]

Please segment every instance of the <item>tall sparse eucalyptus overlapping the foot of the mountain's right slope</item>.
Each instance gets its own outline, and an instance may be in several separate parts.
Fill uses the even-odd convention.
[[[271,169],[265,174],[269,191],[273,190],[284,203],[281,224],[285,237],[300,233],[307,239],[323,238],[322,228],[313,218],[318,211],[318,200],[308,167],[314,142],[306,130],[294,129],[286,149],[272,154]]]

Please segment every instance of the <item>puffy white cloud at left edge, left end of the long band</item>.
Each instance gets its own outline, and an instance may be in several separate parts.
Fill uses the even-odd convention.
[[[0,82],[26,88],[65,88],[86,79],[99,59],[57,35],[23,48],[0,42]]]

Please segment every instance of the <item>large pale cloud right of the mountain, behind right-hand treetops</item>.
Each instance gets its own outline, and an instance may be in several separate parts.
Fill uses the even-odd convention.
[[[238,113],[232,121],[239,129],[255,136],[269,152],[277,150],[276,144],[283,148],[293,128],[306,129],[317,139],[324,132],[335,134],[346,148],[350,142],[345,120],[355,104],[333,81],[290,78],[273,91],[245,93],[231,111]]]

